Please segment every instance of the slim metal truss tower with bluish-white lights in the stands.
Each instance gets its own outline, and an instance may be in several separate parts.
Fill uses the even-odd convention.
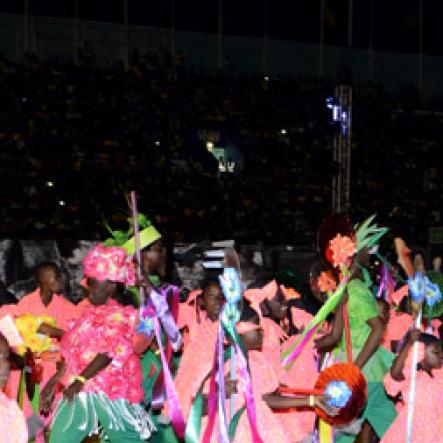
[[[332,155],[337,171],[332,177],[332,210],[345,212],[349,210],[351,203],[351,86],[336,86],[335,95],[328,97],[326,106],[332,111],[332,123],[335,127]]]

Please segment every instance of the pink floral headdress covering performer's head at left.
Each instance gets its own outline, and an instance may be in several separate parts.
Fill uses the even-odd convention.
[[[84,258],[83,270],[86,277],[98,281],[110,280],[128,286],[136,282],[134,263],[118,246],[95,246]]]

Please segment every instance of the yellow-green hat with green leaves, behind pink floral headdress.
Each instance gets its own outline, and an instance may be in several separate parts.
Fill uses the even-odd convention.
[[[112,237],[107,239],[103,244],[105,246],[121,246],[128,255],[135,254],[135,237],[132,223],[132,217],[127,219],[129,229],[127,231],[113,231],[109,225],[106,228],[111,233]],[[140,249],[144,249],[161,238],[160,232],[151,223],[145,215],[139,213],[137,217],[138,226],[140,229]]]

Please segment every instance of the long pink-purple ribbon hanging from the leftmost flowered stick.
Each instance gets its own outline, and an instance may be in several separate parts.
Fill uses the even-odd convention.
[[[157,339],[158,348],[160,350],[160,359],[163,366],[164,386],[169,401],[169,416],[171,418],[171,424],[177,436],[183,439],[185,435],[186,424],[183,418],[183,412],[180,407],[180,402],[178,400],[177,390],[175,389],[171,372],[169,371],[165,351],[163,349],[160,335],[160,324],[157,317],[154,317],[154,332],[155,338]]]

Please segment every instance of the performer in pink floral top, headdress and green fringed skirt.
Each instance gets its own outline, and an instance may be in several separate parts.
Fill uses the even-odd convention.
[[[61,341],[63,366],[42,391],[40,407],[51,409],[61,381],[51,443],[79,443],[98,423],[111,442],[141,442],[155,427],[144,411],[140,359],[133,338],[140,314],[115,301],[119,285],[135,284],[132,260],[119,247],[98,245],[85,257],[91,306],[68,325]]]

